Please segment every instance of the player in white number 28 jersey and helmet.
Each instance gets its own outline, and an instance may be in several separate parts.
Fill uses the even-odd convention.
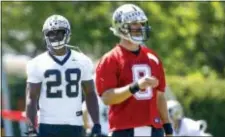
[[[47,51],[27,64],[26,116],[28,134],[39,136],[82,136],[82,91],[94,126],[101,133],[98,100],[92,78],[93,64],[83,53],[71,50],[69,21],[61,15],[48,17],[43,25]]]

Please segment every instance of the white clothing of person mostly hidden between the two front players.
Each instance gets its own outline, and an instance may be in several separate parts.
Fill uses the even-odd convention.
[[[99,96],[97,96],[98,98],[98,105],[99,105],[99,120],[100,120],[100,125],[101,125],[101,130],[102,133],[104,135],[108,135],[109,133],[109,124],[108,124],[108,106],[106,106],[101,98]],[[85,102],[84,102],[85,103]],[[86,109],[86,104],[83,105],[83,109]],[[88,121],[89,121],[89,125],[91,125],[91,127],[93,126],[93,122],[92,119],[90,117],[90,114],[88,115]],[[90,129],[89,129],[90,130]],[[87,131],[90,132],[90,131]]]

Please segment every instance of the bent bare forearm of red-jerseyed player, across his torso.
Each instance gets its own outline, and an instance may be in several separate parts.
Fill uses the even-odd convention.
[[[109,89],[102,94],[102,100],[105,105],[119,104],[129,97],[132,93],[129,90],[129,85],[121,88]]]

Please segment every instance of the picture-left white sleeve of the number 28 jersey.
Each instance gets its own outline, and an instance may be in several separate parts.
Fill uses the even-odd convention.
[[[31,60],[27,63],[26,73],[27,82],[40,83],[42,81],[41,75],[38,73],[38,67],[35,63],[35,60]]]

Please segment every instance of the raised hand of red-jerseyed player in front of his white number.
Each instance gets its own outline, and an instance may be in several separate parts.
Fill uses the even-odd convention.
[[[159,81],[155,77],[146,76],[138,80],[138,85],[140,89],[146,89],[148,87],[155,88],[159,85]]]

